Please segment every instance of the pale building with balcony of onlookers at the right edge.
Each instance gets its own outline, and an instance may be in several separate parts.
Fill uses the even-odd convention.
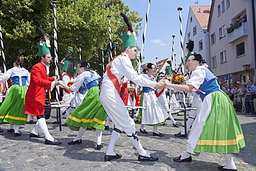
[[[217,75],[218,82],[255,81],[255,10],[254,0],[212,0],[208,32],[210,35],[210,69]],[[232,30],[230,24],[240,16],[246,16]],[[229,33],[228,33],[229,32]],[[244,70],[243,65],[250,64]]]

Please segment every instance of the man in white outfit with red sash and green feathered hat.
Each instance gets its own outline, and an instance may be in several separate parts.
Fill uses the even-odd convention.
[[[132,82],[142,86],[156,87],[158,89],[163,89],[164,86],[163,82],[156,83],[143,78],[142,75],[138,75],[133,69],[131,60],[133,60],[137,54],[135,36],[127,17],[123,14],[122,17],[124,17],[129,26],[127,32],[122,34],[124,51],[121,55],[113,58],[107,65],[100,89],[100,102],[115,125],[109,141],[107,153],[104,156],[104,161],[111,161],[112,159],[120,159],[122,157],[121,154],[113,152],[116,141],[122,132],[127,134],[129,141],[131,141],[134,147],[136,147],[136,150],[138,150],[138,161],[157,161],[158,157],[146,152],[138,140],[134,120],[129,116],[129,113],[120,98],[120,83],[125,76]]]

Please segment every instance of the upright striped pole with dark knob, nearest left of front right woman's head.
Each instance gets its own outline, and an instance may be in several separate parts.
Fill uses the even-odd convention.
[[[183,36],[182,36],[182,22],[181,22],[181,10],[179,7],[177,9],[179,11],[179,21],[180,21],[180,37],[181,37],[181,74],[184,75],[184,59],[183,59]],[[183,106],[184,106],[184,125],[185,125],[185,135],[187,135],[187,122],[186,122],[186,106],[185,106],[185,92],[183,92]]]

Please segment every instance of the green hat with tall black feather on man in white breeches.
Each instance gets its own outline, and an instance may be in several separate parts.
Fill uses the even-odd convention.
[[[132,29],[131,24],[128,21],[127,16],[124,13],[120,14],[127,24],[128,30],[125,33],[122,33],[122,48],[125,49],[127,47],[136,47],[136,35],[134,30]]]

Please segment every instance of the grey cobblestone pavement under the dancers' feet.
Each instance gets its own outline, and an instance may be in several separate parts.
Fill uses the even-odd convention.
[[[28,138],[35,124],[21,126],[21,136],[14,137],[7,132],[8,124],[1,124],[4,132],[0,133],[0,170],[217,170],[219,165],[225,165],[222,154],[201,153],[192,156],[192,162],[176,163],[175,156],[182,154],[186,148],[187,138],[176,138],[174,134],[181,132],[183,127],[176,128],[171,120],[167,125],[158,127],[158,131],[165,136],[152,136],[152,127],[145,126],[149,134],[138,132],[140,142],[147,152],[158,156],[156,162],[138,161],[138,153],[132,147],[127,136],[121,134],[116,143],[115,152],[122,154],[122,159],[104,162],[104,154],[111,136],[113,124],[102,134],[102,150],[95,150],[95,132],[86,131],[82,137],[82,144],[68,145],[68,141],[75,138],[77,132],[63,126],[59,131],[55,109],[48,120],[48,129],[54,138],[61,141],[61,145],[46,145],[43,138]],[[233,154],[238,170],[256,170],[256,116],[237,112],[246,139],[246,147],[239,154]],[[175,116],[179,125],[183,123],[183,116]],[[64,120],[64,119],[62,119]],[[140,125],[136,124],[139,130]]]

